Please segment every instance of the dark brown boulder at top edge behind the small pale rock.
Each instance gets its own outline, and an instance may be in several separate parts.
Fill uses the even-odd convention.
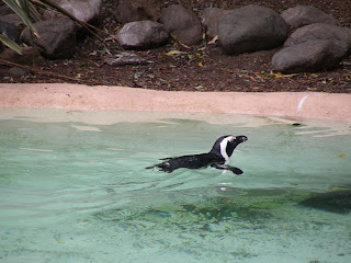
[[[122,24],[151,20],[158,21],[160,11],[155,8],[156,0],[122,0],[114,11],[114,18]]]

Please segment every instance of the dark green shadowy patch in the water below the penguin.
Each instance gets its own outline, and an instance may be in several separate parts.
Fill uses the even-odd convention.
[[[220,222],[227,220],[264,222],[281,218],[281,210],[296,208],[309,193],[294,190],[240,190],[226,187],[194,188],[149,195],[128,207],[99,211],[102,220],[160,220],[180,224],[193,221]],[[157,198],[157,202],[152,199]],[[148,204],[145,206],[145,204]],[[176,218],[181,220],[176,220]],[[185,220],[189,222],[188,220]]]

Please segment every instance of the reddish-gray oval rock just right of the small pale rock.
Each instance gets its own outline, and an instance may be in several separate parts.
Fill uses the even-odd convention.
[[[197,45],[203,39],[200,19],[182,5],[173,4],[165,9],[160,22],[169,33],[185,45]]]

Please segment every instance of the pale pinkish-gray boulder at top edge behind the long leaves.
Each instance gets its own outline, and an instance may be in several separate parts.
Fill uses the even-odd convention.
[[[102,0],[52,0],[52,2],[86,23],[98,18],[102,5]],[[44,16],[46,19],[56,19],[61,14],[56,11],[46,11]]]

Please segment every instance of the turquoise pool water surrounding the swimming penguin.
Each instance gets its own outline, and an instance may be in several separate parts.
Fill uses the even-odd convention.
[[[350,195],[299,204],[350,193],[350,123],[0,110],[0,262],[351,262]],[[240,176],[144,169],[227,134],[249,138]]]

